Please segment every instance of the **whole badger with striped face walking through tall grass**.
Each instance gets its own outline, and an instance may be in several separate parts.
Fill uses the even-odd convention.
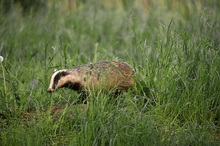
[[[53,73],[48,92],[59,88],[75,91],[127,91],[134,86],[134,70],[125,62],[102,61]]]

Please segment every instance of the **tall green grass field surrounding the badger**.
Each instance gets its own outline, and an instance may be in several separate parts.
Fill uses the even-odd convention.
[[[218,145],[220,11],[201,4],[1,13],[0,145]],[[46,92],[55,68],[117,58],[136,69],[132,92],[87,106]]]

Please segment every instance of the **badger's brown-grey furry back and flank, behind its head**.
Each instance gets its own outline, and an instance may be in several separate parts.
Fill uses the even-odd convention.
[[[124,62],[104,61],[67,70],[78,76],[82,89],[128,90],[134,86],[134,70]]]

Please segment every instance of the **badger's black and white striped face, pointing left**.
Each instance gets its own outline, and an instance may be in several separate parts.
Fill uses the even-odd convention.
[[[48,92],[53,92],[55,89],[57,89],[57,84],[63,76],[66,74],[66,69],[64,70],[58,70],[55,71],[50,79],[50,85],[49,88],[47,89]]]

